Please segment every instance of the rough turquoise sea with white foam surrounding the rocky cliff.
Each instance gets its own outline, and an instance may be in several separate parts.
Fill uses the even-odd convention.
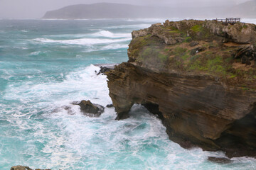
[[[183,149],[142,106],[87,118],[70,102],[112,103],[92,64],[127,61],[132,30],[156,20],[0,21],[0,169],[255,169],[256,160],[214,164],[222,152]],[[71,106],[71,112],[65,110]]]

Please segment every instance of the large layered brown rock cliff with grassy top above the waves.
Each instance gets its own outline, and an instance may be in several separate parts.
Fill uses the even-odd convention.
[[[107,73],[117,119],[134,103],[182,147],[255,157],[256,26],[166,21],[132,32],[129,61]]]

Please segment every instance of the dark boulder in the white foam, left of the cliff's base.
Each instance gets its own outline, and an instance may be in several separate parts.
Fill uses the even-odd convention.
[[[100,117],[101,113],[104,112],[104,107],[98,104],[93,104],[90,101],[77,101],[73,102],[74,105],[79,105],[80,110],[84,115],[89,117]]]

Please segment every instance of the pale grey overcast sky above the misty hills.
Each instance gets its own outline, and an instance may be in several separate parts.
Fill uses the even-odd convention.
[[[247,0],[0,0],[0,18],[41,18],[52,11],[72,4],[112,2],[144,6],[220,6]]]

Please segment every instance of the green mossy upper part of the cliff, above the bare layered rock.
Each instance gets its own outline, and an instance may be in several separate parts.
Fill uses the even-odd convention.
[[[208,75],[256,89],[256,26],[166,21],[132,32],[129,62],[156,72]]]

